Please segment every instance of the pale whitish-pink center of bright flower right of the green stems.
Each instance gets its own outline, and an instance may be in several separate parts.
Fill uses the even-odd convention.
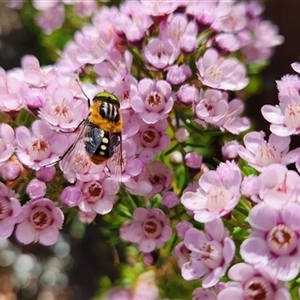
[[[222,211],[232,199],[230,191],[222,185],[212,187],[207,193],[206,209],[208,211]]]

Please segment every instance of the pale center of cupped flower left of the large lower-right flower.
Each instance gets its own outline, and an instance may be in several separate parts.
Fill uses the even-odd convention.
[[[210,269],[219,267],[222,263],[222,246],[217,241],[205,242],[199,249],[200,259]]]

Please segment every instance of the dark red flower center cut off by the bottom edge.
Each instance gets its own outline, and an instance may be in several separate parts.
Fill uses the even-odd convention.
[[[274,291],[270,282],[260,276],[254,276],[245,282],[244,294],[247,300],[274,299]]]

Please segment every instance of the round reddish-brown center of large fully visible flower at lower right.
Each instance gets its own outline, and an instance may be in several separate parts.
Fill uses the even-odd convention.
[[[285,224],[273,227],[267,236],[270,250],[277,255],[288,255],[297,247],[296,233]]]

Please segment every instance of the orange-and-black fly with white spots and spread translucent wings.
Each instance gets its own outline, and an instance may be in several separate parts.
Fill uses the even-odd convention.
[[[123,125],[119,99],[109,92],[98,93],[92,101],[87,99],[88,116],[79,124],[79,133],[61,157],[60,167],[67,180],[74,182],[78,177],[76,174],[88,171],[90,162],[103,165],[113,158],[114,163],[109,164],[109,172],[119,184],[122,174]]]

